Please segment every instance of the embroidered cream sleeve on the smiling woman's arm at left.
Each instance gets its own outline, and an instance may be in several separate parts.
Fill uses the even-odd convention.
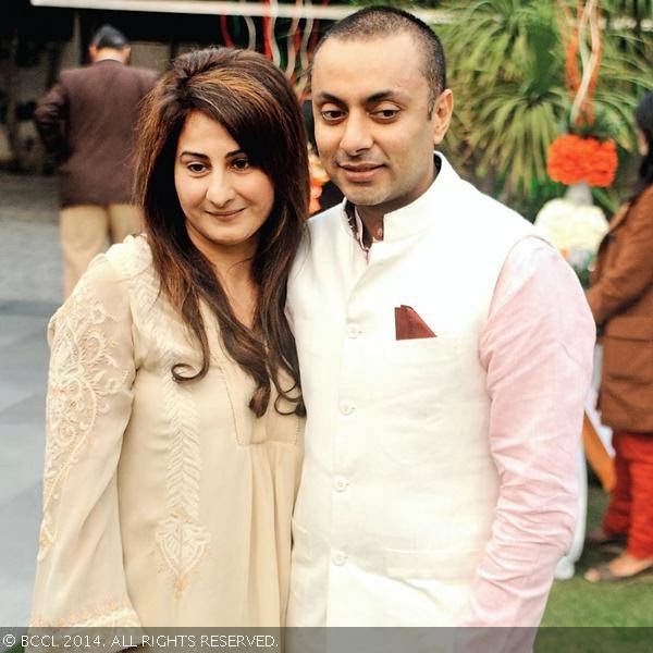
[[[98,257],[50,321],[44,518],[34,626],[138,626],[116,468],[135,375],[124,285]]]

